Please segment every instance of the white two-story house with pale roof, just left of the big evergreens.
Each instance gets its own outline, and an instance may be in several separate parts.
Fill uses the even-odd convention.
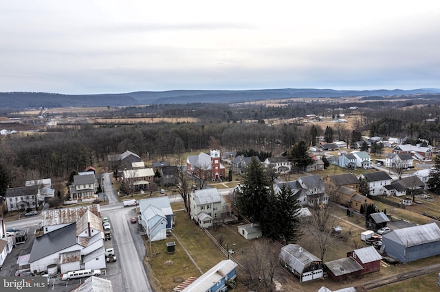
[[[228,212],[227,205],[217,188],[192,190],[190,193],[190,215],[201,228],[210,228],[221,221],[222,214]]]

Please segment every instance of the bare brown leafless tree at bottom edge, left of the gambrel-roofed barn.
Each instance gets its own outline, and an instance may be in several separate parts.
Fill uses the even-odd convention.
[[[275,291],[274,278],[283,266],[278,254],[281,247],[268,239],[256,241],[252,252],[243,260],[243,284],[253,291]]]

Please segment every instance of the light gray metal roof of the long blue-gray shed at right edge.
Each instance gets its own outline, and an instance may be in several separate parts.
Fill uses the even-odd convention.
[[[411,247],[415,245],[422,245],[423,243],[431,243],[440,241],[440,228],[436,223],[428,223],[425,225],[408,227],[393,230],[382,236],[384,239],[389,239]]]

